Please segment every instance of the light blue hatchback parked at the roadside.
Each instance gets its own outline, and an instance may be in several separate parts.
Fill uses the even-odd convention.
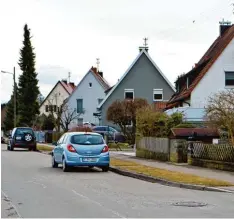
[[[99,167],[109,170],[110,154],[102,135],[93,132],[68,132],[61,136],[52,151],[52,167],[62,164],[63,171],[71,167]]]

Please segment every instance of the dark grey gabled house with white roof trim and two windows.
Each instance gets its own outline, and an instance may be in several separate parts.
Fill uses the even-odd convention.
[[[172,84],[149,56],[148,47],[140,47],[136,59],[99,104],[101,124],[113,125],[107,121],[106,114],[115,100],[144,98],[153,104],[168,101],[174,92]]]

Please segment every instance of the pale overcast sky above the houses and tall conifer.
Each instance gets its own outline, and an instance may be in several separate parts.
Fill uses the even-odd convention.
[[[174,84],[191,70],[219,34],[219,21],[234,22],[234,0],[1,0],[0,70],[21,74],[23,26],[33,35],[40,91],[58,80],[77,84],[100,58],[114,85],[148,37],[149,55]],[[143,73],[143,72],[142,72]],[[145,82],[147,83],[147,82]],[[11,75],[1,74],[1,102],[12,93]]]

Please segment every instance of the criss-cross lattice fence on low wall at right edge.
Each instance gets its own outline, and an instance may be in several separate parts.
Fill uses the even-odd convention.
[[[191,145],[191,157],[197,159],[234,162],[234,146],[228,144],[203,144]]]

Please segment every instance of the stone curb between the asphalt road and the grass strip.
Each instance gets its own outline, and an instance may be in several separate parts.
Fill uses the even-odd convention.
[[[219,188],[214,188],[214,187],[206,187],[206,186],[199,186],[199,185],[192,185],[192,184],[184,184],[184,183],[177,183],[177,182],[172,182],[168,181],[165,179],[160,179],[152,176],[147,176],[144,174],[140,173],[133,173],[127,170],[122,170],[116,167],[110,167],[110,171],[123,175],[123,176],[128,176],[132,177],[135,179],[151,182],[151,183],[159,183],[161,185],[165,186],[172,186],[172,187],[178,187],[178,188],[184,188],[184,189],[192,189],[192,190],[199,190],[199,191],[210,191],[210,192],[226,192],[226,193],[233,193],[234,191],[226,190],[226,189],[219,189]]]

